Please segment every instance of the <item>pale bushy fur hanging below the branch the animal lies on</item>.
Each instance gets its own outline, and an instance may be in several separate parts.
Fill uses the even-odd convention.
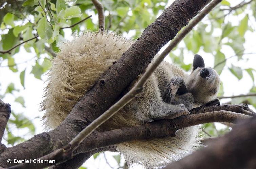
[[[176,137],[136,140],[116,146],[128,164],[139,163],[146,168],[164,166],[183,158],[201,145],[199,130],[198,126],[192,126],[178,130]]]

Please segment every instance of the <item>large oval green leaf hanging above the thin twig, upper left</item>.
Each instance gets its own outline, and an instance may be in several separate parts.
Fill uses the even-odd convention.
[[[41,18],[38,22],[37,33],[40,38],[46,39],[46,40],[50,39],[53,35],[52,27],[50,23],[47,22],[47,19],[45,16]]]

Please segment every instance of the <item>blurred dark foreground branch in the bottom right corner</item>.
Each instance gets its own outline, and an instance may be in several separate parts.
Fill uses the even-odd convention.
[[[255,128],[256,117],[245,120],[224,137],[165,169],[256,168]]]

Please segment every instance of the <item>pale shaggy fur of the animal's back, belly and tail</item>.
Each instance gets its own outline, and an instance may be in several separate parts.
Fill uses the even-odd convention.
[[[53,129],[60,125],[77,101],[132,43],[133,41],[114,33],[89,31],[81,36],[76,35],[71,42],[63,43],[60,52],[52,61],[45,100],[42,103],[45,127]],[[159,112],[166,113],[166,110],[175,108],[161,99],[161,87],[174,76],[184,79],[188,77],[182,69],[163,62],[146,83],[144,92],[98,130],[141,125],[159,116]],[[133,84],[137,80],[138,78]],[[152,110],[155,110],[153,114]],[[136,140],[118,144],[116,147],[128,163],[137,162],[151,168],[191,153],[199,146],[198,132],[199,128],[193,126],[178,130],[176,137]]]

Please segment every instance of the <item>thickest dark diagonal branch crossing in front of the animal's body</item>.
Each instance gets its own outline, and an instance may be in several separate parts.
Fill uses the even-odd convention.
[[[0,154],[0,166],[14,165],[7,163],[9,158],[34,159],[67,145],[71,138],[113,104],[131,81],[145,70],[160,48],[174,38],[177,32],[209,1],[176,0],[172,3],[122,55],[121,59],[101,76],[59,127],[8,148]]]

